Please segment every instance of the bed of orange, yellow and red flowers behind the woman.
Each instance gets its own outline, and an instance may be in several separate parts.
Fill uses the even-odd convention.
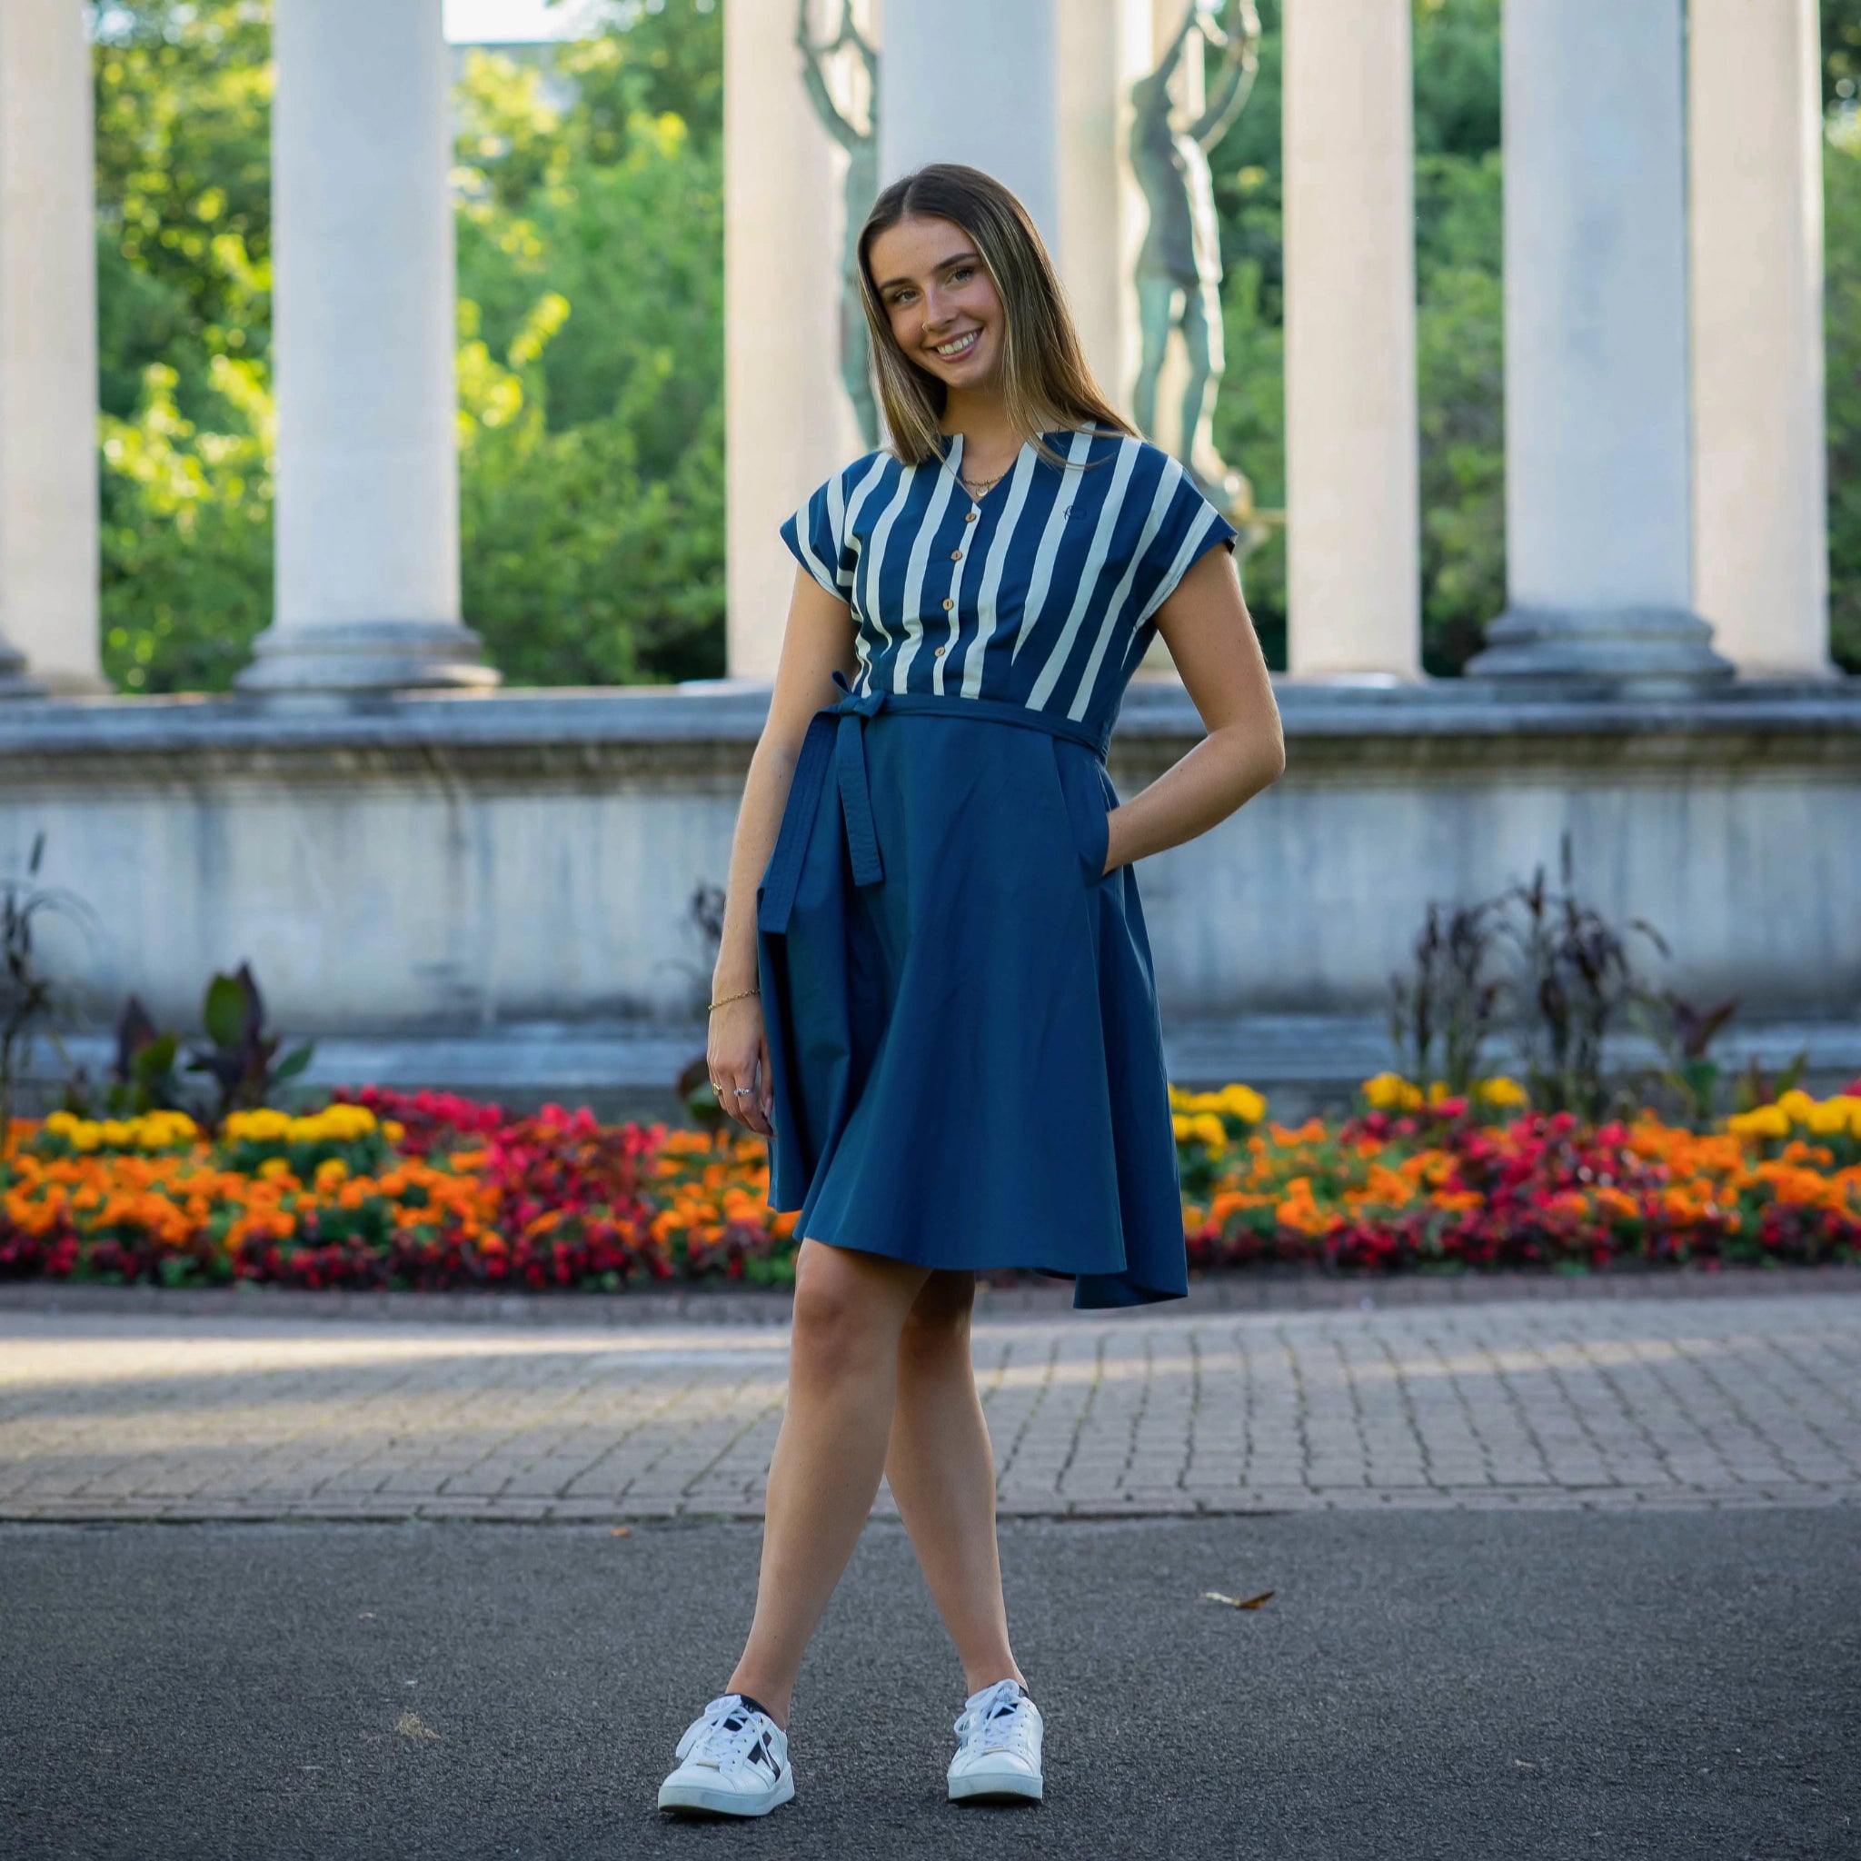
[[[1710,1133],[1580,1126],[1379,1076],[1355,1117],[1267,1118],[1245,1085],[1171,1092],[1195,1269],[1334,1271],[1861,1258],[1861,1081]],[[0,1275],[288,1286],[577,1288],[793,1279],[761,1139],[512,1118],[363,1091],[309,1117],[15,1120]]]

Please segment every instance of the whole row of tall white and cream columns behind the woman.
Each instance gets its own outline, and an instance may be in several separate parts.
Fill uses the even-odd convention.
[[[880,175],[953,158],[1016,188],[1124,404],[1143,233],[1126,99],[1184,4],[862,9],[884,47]],[[780,646],[776,523],[858,450],[834,348],[845,156],[793,30],[787,0],[726,11],[730,670],[746,677]],[[1506,0],[1504,32],[1509,594],[1472,670],[1826,676],[1814,0]],[[441,0],[275,0],[275,610],[240,685],[495,683],[460,618]],[[1305,677],[1420,672],[1409,60],[1409,0],[1286,4]],[[84,7],[6,0],[0,692],[100,689],[89,177]]]

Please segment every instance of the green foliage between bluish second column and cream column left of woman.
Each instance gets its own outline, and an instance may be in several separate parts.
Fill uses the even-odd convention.
[[[504,391],[465,415],[465,610],[517,685],[724,670],[722,123],[685,76],[692,123],[646,108],[653,58],[722,47],[649,20],[566,48],[562,117],[506,60],[462,91],[462,400]]]

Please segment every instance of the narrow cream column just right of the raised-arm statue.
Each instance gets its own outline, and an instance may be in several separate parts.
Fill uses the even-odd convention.
[[[1422,670],[1409,0],[1284,9],[1288,670]]]

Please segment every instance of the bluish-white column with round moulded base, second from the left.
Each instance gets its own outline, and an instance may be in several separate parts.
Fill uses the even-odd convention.
[[[460,625],[441,0],[277,0],[275,612],[246,690],[493,685]]]

